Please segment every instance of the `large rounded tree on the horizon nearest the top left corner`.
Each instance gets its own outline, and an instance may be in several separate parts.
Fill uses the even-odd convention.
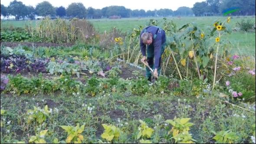
[[[7,8],[10,15],[15,16],[15,20],[19,20],[21,17],[26,16],[26,6],[20,1],[12,1]]]

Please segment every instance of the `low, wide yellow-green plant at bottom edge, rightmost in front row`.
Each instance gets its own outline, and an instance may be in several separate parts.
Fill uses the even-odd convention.
[[[217,143],[219,143],[219,144],[225,144],[225,143],[232,144],[236,141],[236,139],[238,139],[238,136],[236,135],[236,133],[232,132],[230,130],[219,131],[217,133],[215,131],[212,131],[212,132],[213,132],[213,134],[215,134],[213,139],[216,140]]]

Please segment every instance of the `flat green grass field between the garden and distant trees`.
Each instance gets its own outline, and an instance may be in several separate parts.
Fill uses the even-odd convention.
[[[148,26],[149,20],[152,18],[124,18],[119,20],[109,20],[109,19],[98,19],[89,20],[95,27],[98,33],[102,34],[105,31],[110,31],[113,27],[120,29],[122,32],[131,32],[132,29],[138,28],[138,26]],[[158,26],[163,23],[163,18],[154,18],[158,20]],[[232,28],[237,27],[236,23],[242,20],[252,20],[255,23],[255,16],[237,16],[232,17],[230,25]],[[187,23],[197,23],[197,25],[203,29],[213,26],[215,20],[226,21],[226,16],[209,16],[209,17],[167,17],[167,20],[173,20],[177,27],[180,28]],[[26,25],[37,26],[39,21],[1,21],[1,27],[25,27]],[[223,36],[227,38],[233,44],[233,48],[245,54],[255,56],[255,32],[233,32],[231,35]],[[236,52],[235,52],[236,53]]]

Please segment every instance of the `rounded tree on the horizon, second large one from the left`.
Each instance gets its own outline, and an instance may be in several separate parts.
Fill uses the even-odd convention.
[[[56,12],[54,7],[48,1],[43,1],[36,5],[36,14],[39,16],[55,16]]]

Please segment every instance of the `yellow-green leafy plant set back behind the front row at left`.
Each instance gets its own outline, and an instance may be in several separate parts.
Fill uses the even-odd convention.
[[[36,120],[38,124],[42,124],[46,121],[46,117],[49,117],[50,111],[47,105],[43,109],[34,106],[34,110],[29,109],[26,114],[28,115],[27,121],[29,124],[34,120]]]

